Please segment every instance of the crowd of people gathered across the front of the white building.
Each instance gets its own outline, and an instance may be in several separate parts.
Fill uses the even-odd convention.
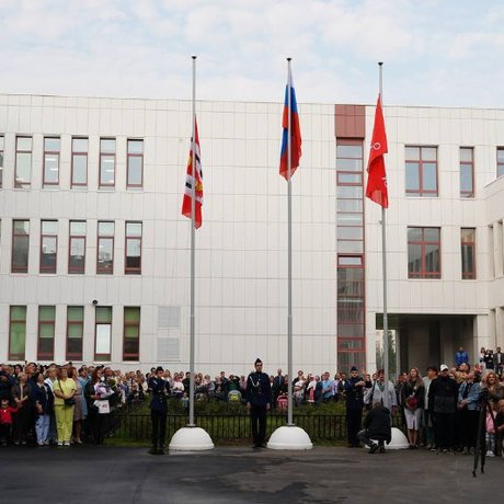
[[[366,374],[353,367],[350,376],[329,371],[321,375],[302,370],[290,381],[278,369],[268,377],[271,406],[285,410],[289,382],[296,406],[342,402],[346,405],[348,446],[360,446],[359,432],[367,425],[363,415],[374,404],[387,403],[406,427],[410,449],[425,447],[436,453],[473,453],[480,411],[484,409],[488,455],[502,454],[504,434],[504,354],[482,348],[479,360],[469,364],[460,347],[455,366],[429,366],[425,376],[413,367],[396,382],[385,382],[385,374]],[[221,371],[194,376],[197,400],[248,403],[250,376]],[[125,404],[150,398],[153,428],[163,438],[167,400],[188,405],[191,374],[173,375],[161,367],[149,373],[113,370],[106,366],[43,366],[36,363],[0,365],[0,444],[69,446],[91,442],[102,444],[108,413]],[[160,394],[162,391],[162,394]],[[161,416],[156,416],[160,411]],[[380,412],[375,412],[375,415]],[[158,420],[156,420],[158,419]],[[156,422],[154,422],[156,420]],[[165,423],[165,422],[164,422]],[[160,437],[160,438],[161,438]],[[261,436],[260,436],[261,437]],[[255,437],[254,437],[255,439]],[[162,442],[159,442],[160,447]],[[261,440],[259,444],[263,444]],[[381,447],[380,447],[381,448]],[[378,448],[376,448],[378,449]]]

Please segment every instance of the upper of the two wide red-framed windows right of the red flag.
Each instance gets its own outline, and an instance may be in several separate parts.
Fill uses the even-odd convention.
[[[406,147],[406,196],[437,196],[437,148]]]

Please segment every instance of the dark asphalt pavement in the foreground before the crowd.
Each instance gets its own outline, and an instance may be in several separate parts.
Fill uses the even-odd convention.
[[[427,450],[368,455],[217,447],[152,456],[145,448],[0,448],[0,502],[51,504],[495,502],[504,459],[473,478],[471,456]]]

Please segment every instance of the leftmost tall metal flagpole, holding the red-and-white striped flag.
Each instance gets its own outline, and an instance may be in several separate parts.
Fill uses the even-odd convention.
[[[194,427],[194,340],[195,340],[195,317],[194,317],[194,295],[195,295],[195,264],[196,264],[196,56],[193,58],[193,134],[191,136],[191,157],[193,179],[191,184],[191,337],[190,337],[190,419],[188,427]]]

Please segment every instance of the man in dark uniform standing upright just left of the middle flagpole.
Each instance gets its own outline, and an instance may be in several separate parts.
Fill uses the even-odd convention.
[[[266,412],[272,404],[270,377],[263,373],[263,362],[255,359],[255,373],[247,378],[247,408],[250,410],[250,422],[254,448],[265,448]]]

